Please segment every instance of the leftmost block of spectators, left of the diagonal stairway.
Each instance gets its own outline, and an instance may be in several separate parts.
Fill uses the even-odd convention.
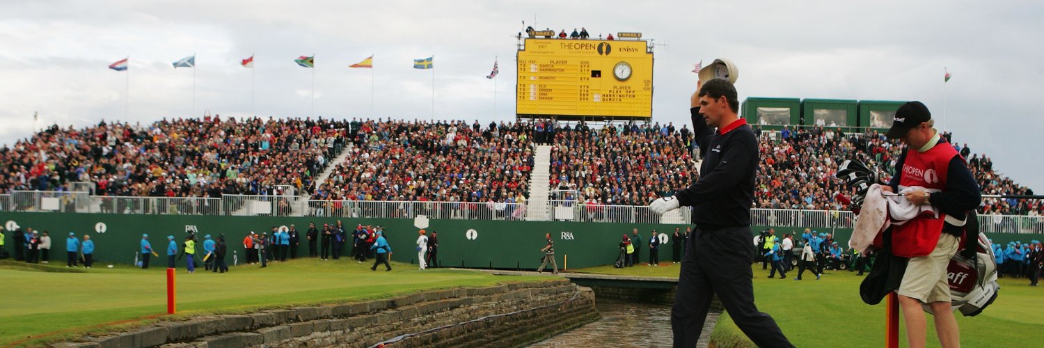
[[[51,126],[0,148],[0,192],[69,190],[93,183],[97,195],[219,198],[309,189],[345,141],[347,122],[163,119],[148,125],[101,121]],[[104,206],[103,206],[104,207]]]

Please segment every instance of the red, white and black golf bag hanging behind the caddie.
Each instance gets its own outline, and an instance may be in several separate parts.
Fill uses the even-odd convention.
[[[950,258],[947,274],[950,283],[950,306],[965,317],[975,317],[997,299],[997,259],[984,233],[978,233],[974,211],[965,225],[965,243]],[[927,312],[931,307],[923,304]]]

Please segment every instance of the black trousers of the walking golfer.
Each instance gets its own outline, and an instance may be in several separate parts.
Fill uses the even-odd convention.
[[[688,238],[670,325],[674,347],[695,347],[716,294],[736,326],[758,347],[793,347],[754,305],[754,246],[750,227],[696,229]]]

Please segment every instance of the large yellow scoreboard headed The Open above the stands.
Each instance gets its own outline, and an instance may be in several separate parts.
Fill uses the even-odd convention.
[[[652,116],[645,41],[526,39],[518,52],[519,116]]]

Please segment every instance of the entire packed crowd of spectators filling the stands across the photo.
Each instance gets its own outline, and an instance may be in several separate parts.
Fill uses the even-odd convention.
[[[852,190],[833,178],[840,162],[863,161],[880,168],[886,181],[901,154],[901,146],[875,131],[757,132],[755,208],[845,210],[836,195]],[[321,201],[521,204],[529,194],[533,146],[551,144],[552,200],[644,206],[698,176],[691,137],[687,125],[634,122],[595,129],[551,120],[485,126],[220,116],[147,125],[102,121],[81,130],[51,126],[0,148],[0,193],[63,191],[70,183],[90,182],[102,196],[220,198],[293,187]],[[944,137],[952,140],[951,134]],[[986,154],[953,144],[983,194],[1033,194],[997,171]],[[346,161],[325,183],[314,183],[341,148],[350,152]],[[980,214],[1044,215],[1039,200],[982,202]]]

